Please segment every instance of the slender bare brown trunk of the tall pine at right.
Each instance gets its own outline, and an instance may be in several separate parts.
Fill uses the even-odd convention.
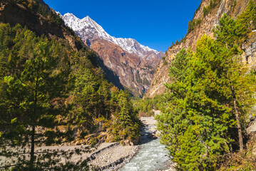
[[[244,149],[244,144],[242,142],[242,128],[241,128],[241,123],[240,123],[240,116],[239,116],[239,112],[238,112],[238,107],[237,107],[237,98],[235,97],[234,87],[232,86],[231,89],[232,89],[233,102],[234,102],[234,108],[235,108],[235,118],[237,120],[237,129],[238,129],[240,152],[242,152],[242,150]]]

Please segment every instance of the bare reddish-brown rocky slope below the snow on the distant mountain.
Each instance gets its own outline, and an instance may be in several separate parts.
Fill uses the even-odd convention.
[[[128,88],[133,95],[142,96],[148,90],[154,68],[148,66],[139,56],[103,39],[91,41],[91,48],[101,56],[104,65],[111,68],[123,87]]]

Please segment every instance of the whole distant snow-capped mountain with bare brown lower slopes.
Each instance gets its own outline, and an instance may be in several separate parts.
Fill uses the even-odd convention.
[[[132,38],[115,38],[89,16],[61,16],[82,41],[96,51],[108,68],[119,76],[123,86],[134,95],[143,95],[150,86],[153,71],[164,53],[143,46]]]

